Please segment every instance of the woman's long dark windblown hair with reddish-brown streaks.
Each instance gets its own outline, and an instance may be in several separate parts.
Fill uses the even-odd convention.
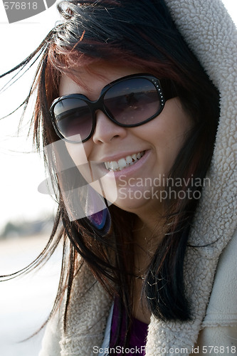
[[[25,101],[26,106],[33,91],[37,91],[32,121],[36,146],[40,145],[41,129],[44,147],[58,140],[48,109],[59,96],[58,85],[63,73],[77,81],[80,80],[76,78],[75,68],[78,66],[88,70],[96,63],[119,63],[120,66],[131,66],[132,63],[138,71],[152,73],[165,80],[193,121],[193,128],[177,155],[169,177],[184,177],[186,182],[190,177],[202,181],[214,150],[219,116],[218,91],[177,30],[164,0],[63,1],[58,9],[63,16],[62,23],[53,28],[26,61],[9,72],[22,70],[33,58],[41,55],[33,86]],[[47,163],[47,155],[45,159]],[[63,236],[62,272],[53,311],[66,292],[66,325],[73,278],[80,266],[87,263],[107,293],[111,297],[119,295],[121,304],[125,305],[128,340],[134,280],[131,228],[134,216],[110,206],[110,236],[95,229],[88,219],[70,221],[60,193],[60,178],[51,164],[48,166],[57,187],[58,213],[51,239],[34,263],[41,263],[43,258],[51,256]],[[190,183],[182,189],[193,192],[197,187],[192,187]],[[201,191],[201,187],[199,189]],[[198,202],[198,199],[165,201],[166,234],[147,267],[143,283],[149,310],[162,320],[191,318],[183,268],[189,230]],[[58,226],[61,226],[60,229]],[[56,241],[53,239],[55,235]],[[127,244],[131,248],[127,248]],[[117,333],[119,335],[119,328]]]

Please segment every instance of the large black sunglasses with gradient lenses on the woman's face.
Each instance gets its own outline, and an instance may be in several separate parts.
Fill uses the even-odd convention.
[[[163,92],[161,81],[149,74],[127,75],[107,84],[95,101],[82,94],[63,95],[50,108],[53,127],[60,139],[85,142],[95,132],[97,110],[122,127],[143,125],[157,117],[165,101],[175,96],[167,88]]]

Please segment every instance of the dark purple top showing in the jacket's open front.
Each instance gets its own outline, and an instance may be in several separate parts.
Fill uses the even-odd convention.
[[[115,298],[114,309],[112,313],[111,330],[110,330],[110,347],[112,347],[113,341],[115,340],[118,318],[120,318],[119,310],[118,310],[118,299]],[[130,352],[126,351],[127,356],[134,356],[134,355],[144,356],[144,349],[145,349],[146,338],[147,338],[147,328],[148,325],[146,323],[143,323],[142,321],[137,320],[135,318],[132,319],[132,329],[131,329],[130,344],[129,344]],[[122,350],[122,345],[125,340],[125,333],[126,333],[125,310],[122,310],[122,328],[121,328],[120,343],[119,343],[121,348],[120,349],[117,348],[118,352],[116,355],[122,355],[122,352],[120,352],[120,350]]]

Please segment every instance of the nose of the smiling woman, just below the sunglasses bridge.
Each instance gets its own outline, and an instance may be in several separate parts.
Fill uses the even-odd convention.
[[[110,143],[115,138],[122,139],[127,135],[127,127],[122,127],[112,122],[104,112],[98,110],[96,113],[95,132],[93,141],[100,145],[101,143]]]

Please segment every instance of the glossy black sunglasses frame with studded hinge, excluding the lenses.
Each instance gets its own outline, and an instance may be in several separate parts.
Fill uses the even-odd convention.
[[[112,115],[110,114],[109,110],[105,107],[104,105],[104,97],[105,94],[107,93],[108,90],[110,90],[114,85],[116,85],[117,83],[121,83],[127,79],[140,79],[140,78],[144,78],[149,80],[150,82],[152,82],[152,84],[154,85],[154,88],[157,89],[157,93],[159,95],[159,103],[160,103],[160,108],[159,110],[157,110],[157,112],[152,115],[151,117],[148,117],[146,120],[142,121],[142,122],[138,122],[137,124],[121,124],[120,122],[117,122]],[[147,73],[138,73],[138,74],[132,74],[132,75],[126,75],[125,77],[119,78],[117,80],[113,80],[111,83],[105,85],[104,88],[102,88],[101,92],[100,92],[100,96],[98,98],[98,100],[92,101],[89,100],[85,95],[83,94],[69,94],[69,95],[63,95],[60,96],[59,98],[56,98],[55,100],[53,100],[53,103],[51,104],[51,108],[49,109],[50,115],[51,115],[51,121],[53,124],[53,128],[56,131],[56,134],[58,135],[58,137],[60,137],[60,139],[66,141],[66,142],[70,142],[70,143],[81,143],[81,142],[85,142],[88,141],[90,139],[90,137],[93,136],[93,133],[95,132],[95,126],[96,126],[96,111],[97,110],[101,110],[102,112],[104,112],[104,114],[108,117],[109,120],[111,120],[112,122],[114,122],[116,125],[122,126],[122,127],[136,127],[136,126],[140,126],[140,125],[144,125],[146,122],[149,122],[150,120],[154,119],[154,117],[157,117],[162,110],[164,109],[164,104],[166,102],[166,100],[168,100],[169,98],[172,98],[175,95],[169,95],[168,98],[164,98],[164,94],[163,94],[163,90],[162,90],[162,85],[161,85],[161,80],[157,79],[154,75],[152,74],[147,74]],[[66,98],[78,98],[80,100],[83,100],[85,103],[87,103],[88,107],[90,108],[90,112],[92,115],[92,120],[93,120],[93,124],[90,130],[90,134],[88,135],[88,137],[86,137],[83,140],[80,141],[71,141],[66,139],[58,130],[58,127],[56,125],[56,117],[54,115],[54,108],[56,106],[56,104],[58,104],[60,101],[65,100]]]

